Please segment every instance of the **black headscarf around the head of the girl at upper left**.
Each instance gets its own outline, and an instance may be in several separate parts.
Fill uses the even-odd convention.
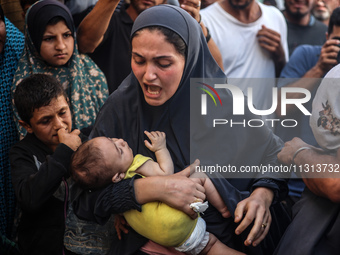
[[[32,5],[27,14],[27,27],[32,42],[38,52],[42,38],[48,22],[52,18],[61,17],[65,20],[66,26],[71,30],[73,37],[75,30],[73,25],[72,14],[65,8],[65,5],[56,0],[39,1]]]

